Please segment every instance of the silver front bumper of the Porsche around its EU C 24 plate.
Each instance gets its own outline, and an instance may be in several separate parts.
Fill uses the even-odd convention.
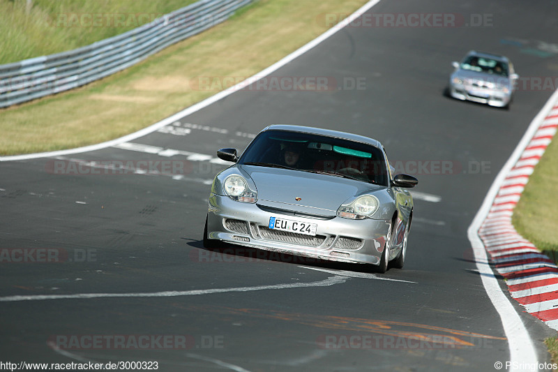
[[[271,217],[317,224],[315,237],[269,229]],[[285,215],[258,204],[236,202],[227,196],[209,198],[207,236],[229,244],[303,257],[379,265],[386,246],[389,220],[351,220]]]

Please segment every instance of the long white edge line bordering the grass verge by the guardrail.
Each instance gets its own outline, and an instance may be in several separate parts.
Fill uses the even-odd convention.
[[[372,6],[375,6],[377,3],[379,3],[379,0],[368,1],[368,3],[365,3],[363,6],[361,6],[361,8],[359,8],[354,13],[352,13],[352,15],[349,15],[349,17],[345,18],[345,20],[343,20],[342,25],[339,24],[339,25],[336,25],[335,27],[331,27],[331,29],[325,31],[324,34],[318,36],[314,40],[311,40],[309,43],[306,43],[302,47],[299,47],[299,49],[295,50],[294,52],[289,54],[287,57],[284,57],[284,58],[280,59],[280,61],[277,61],[275,64],[269,66],[268,68],[265,68],[264,70],[262,70],[259,73],[253,75],[252,77],[248,77],[248,79],[246,79],[244,82],[239,82],[239,84],[236,84],[233,87],[230,87],[229,89],[227,89],[225,91],[220,91],[218,94],[215,94],[215,95],[213,95],[209,98],[206,98],[206,99],[204,99],[204,101],[196,103],[195,105],[192,105],[192,106],[186,108],[185,110],[182,110],[181,112],[177,112],[176,114],[172,115],[172,117],[167,117],[166,119],[163,119],[156,124],[148,126],[147,128],[143,128],[141,131],[137,131],[135,133],[130,133],[129,135],[125,135],[123,137],[116,138],[115,140],[110,140],[110,141],[102,142],[102,143],[99,143],[99,144],[92,144],[90,146],[85,146],[85,147],[77,147],[76,149],[39,152],[39,153],[36,153],[36,154],[25,154],[25,155],[15,155],[15,156],[0,156],[0,161],[17,161],[17,160],[27,160],[27,159],[34,159],[34,158],[46,158],[46,157],[54,157],[54,156],[63,156],[63,155],[68,155],[68,154],[77,154],[77,153],[86,152],[86,151],[95,151],[95,150],[105,149],[107,147],[115,146],[116,144],[119,144],[119,143],[122,143],[122,142],[128,142],[128,141],[131,141],[131,140],[135,140],[136,138],[142,137],[144,135],[148,135],[149,133],[153,133],[154,131],[158,131],[158,129],[163,128],[163,126],[167,126],[169,124],[174,123],[175,121],[179,121],[180,119],[183,119],[183,117],[187,117],[188,115],[193,114],[194,112],[197,112],[199,110],[202,110],[203,108],[205,108],[209,105],[212,105],[213,103],[216,103],[220,99],[225,98],[225,97],[233,94],[235,91],[239,90],[240,87],[246,86],[246,84],[247,84],[246,82],[248,82],[248,81],[256,82],[256,81],[262,79],[263,77],[266,77],[267,75],[275,72],[276,70],[278,70],[282,66],[285,66],[289,62],[291,62],[294,59],[300,57],[302,54],[304,54],[304,53],[308,52],[309,50],[311,50],[312,48],[316,47],[317,45],[322,43],[327,38],[333,36],[338,31],[344,29],[344,26],[347,26],[348,24],[351,24],[351,22],[356,20],[356,18],[361,17],[361,15],[363,13],[365,13],[366,10],[372,8]]]

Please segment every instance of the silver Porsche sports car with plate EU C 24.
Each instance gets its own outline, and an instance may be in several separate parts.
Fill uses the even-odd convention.
[[[223,242],[310,258],[402,267],[413,216],[386,151],[361,135],[305,126],[264,128],[213,180],[204,246]]]

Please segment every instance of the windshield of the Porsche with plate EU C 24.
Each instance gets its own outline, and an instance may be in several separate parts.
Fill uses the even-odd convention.
[[[331,174],[388,186],[384,155],[370,144],[309,133],[265,131],[239,164]]]

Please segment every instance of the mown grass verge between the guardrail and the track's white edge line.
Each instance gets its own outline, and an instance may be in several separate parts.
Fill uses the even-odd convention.
[[[260,0],[121,73],[0,110],[0,155],[80,147],[138,131],[226,88],[220,83],[227,77],[254,75],[322,34],[324,14],[349,14],[365,2]],[[218,84],[200,89],[207,77]]]

